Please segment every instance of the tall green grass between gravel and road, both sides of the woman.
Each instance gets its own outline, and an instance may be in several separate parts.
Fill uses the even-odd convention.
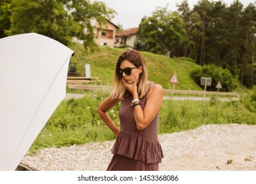
[[[107,97],[103,91],[86,91],[82,99],[63,101],[30,147],[30,154],[46,147],[68,147],[95,141],[115,139],[115,135],[99,118],[96,109]],[[247,106],[254,103],[254,106]],[[118,109],[109,111],[120,126]],[[205,124],[256,124],[256,103],[251,96],[241,101],[163,101],[159,116],[159,134],[194,129]]]

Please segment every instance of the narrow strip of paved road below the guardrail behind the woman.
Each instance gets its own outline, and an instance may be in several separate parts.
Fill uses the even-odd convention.
[[[71,98],[78,99],[78,98],[82,98],[82,97],[84,97],[84,94],[66,93],[66,97],[64,98],[64,100],[68,100]],[[164,100],[172,99],[173,101],[186,101],[186,100],[209,101],[211,99],[211,97],[169,97],[169,96],[165,96],[163,99]],[[239,99],[238,97],[230,97],[230,98],[219,97],[218,98],[218,100],[220,100],[220,101],[237,101],[238,99]]]

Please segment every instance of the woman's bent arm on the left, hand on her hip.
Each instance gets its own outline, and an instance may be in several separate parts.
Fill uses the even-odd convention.
[[[111,120],[111,118],[109,117],[109,114],[107,114],[107,111],[109,109],[111,109],[113,106],[115,106],[118,102],[119,102],[118,100],[113,100],[109,96],[101,104],[99,104],[99,106],[97,108],[97,112],[98,112],[99,116],[101,117],[103,122],[105,122],[105,124],[107,124],[107,126],[111,129],[111,131],[113,131],[113,133],[115,133],[115,135],[118,135],[119,129],[118,129],[118,127],[116,127],[114,122]]]

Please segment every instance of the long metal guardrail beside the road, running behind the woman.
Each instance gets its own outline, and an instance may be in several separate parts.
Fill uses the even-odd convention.
[[[109,85],[80,85],[80,84],[68,84],[69,89],[80,90],[111,90],[112,86]],[[188,95],[226,95],[239,97],[240,93],[233,92],[218,92],[218,91],[191,91],[191,90],[179,90],[179,89],[164,89],[164,93],[173,94],[188,94]]]

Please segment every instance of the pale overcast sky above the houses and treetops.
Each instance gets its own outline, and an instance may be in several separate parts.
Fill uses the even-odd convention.
[[[176,11],[177,3],[183,0],[91,0],[101,1],[105,5],[117,12],[115,18],[111,20],[114,24],[122,25],[123,29],[139,27],[143,16],[151,16],[157,7],[165,7],[168,4],[168,10]],[[192,8],[199,0],[188,0],[188,5]],[[212,0],[209,0],[212,1]],[[218,1],[218,0],[213,0]],[[234,0],[222,0],[230,6]],[[240,0],[243,7],[249,3],[255,3],[256,0]]]

